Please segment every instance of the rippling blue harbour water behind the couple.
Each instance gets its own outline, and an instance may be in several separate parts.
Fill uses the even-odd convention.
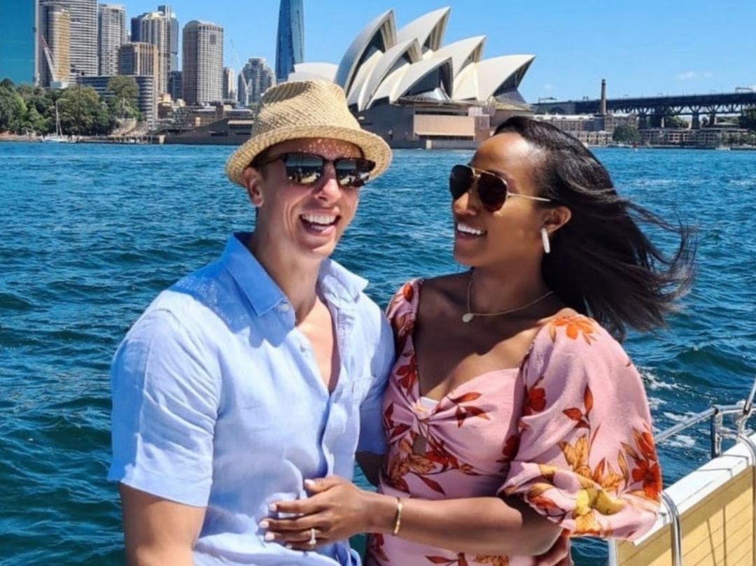
[[[157,292],[251,227],[222,172],[230,151],[0,144],[0,566],[122,564],[104,481],[110,357]],[[700,230],[686,310],[626,344],[655,425],[744,397],[756,372],[756,152],[596,153],[622,193]],[[398,151],[364,190],[336,258],[380,304],[409,277],[457,270],[445,175],[468,157]],[[662,449],[669,483],[708,444],[694,432]],[[605,552],[582,544],[575,559],[601,564]]]

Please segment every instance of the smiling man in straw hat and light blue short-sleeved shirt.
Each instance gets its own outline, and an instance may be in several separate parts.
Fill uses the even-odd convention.
[[[254,232],[161,293],[113,360],[109,478],[129,564],[358,564],[346,541],[299,552],[259,522],[307,496],[305,479],[351,478],[355,450],[384,451],[391,332],[367,282],[328,257],[390,161],[338,86],[263,97],[226,166]]]

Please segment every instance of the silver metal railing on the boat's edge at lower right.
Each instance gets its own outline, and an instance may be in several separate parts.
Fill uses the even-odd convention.
[[[748,397],[733,405],[712,405],[701,413],[696,413],[655,435],[656,444],[668,441],[680,432],[708,420],[711,439],[711,458],[717,458],[722,453],[722,441],[733,440],[741,442],[751,453],[751,465],[756,465],[756,443],[746,434],[745,425],[751,418],[756,397],[756,378],[754,378]],[[732,425],[725,424],[725,417],[732,417]],[[756,474],[754,474],[754,508],[756,508]],[[683,565],[683,533],[680,512],[671,496],[662,491],[662,505],[667,510],[670,522],[672,566]],[[756,549],[756,531],[754,531],[754,549]]]

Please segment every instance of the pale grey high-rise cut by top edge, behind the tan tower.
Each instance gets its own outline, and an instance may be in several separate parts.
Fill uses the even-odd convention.
[[[72,76],[98,74],[97,0],[40,0],[40,6],[58,5],[70,15]]]

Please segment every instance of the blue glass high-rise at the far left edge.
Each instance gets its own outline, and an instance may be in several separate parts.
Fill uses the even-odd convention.
[[[0,79],[39,82],[37,2],[0,2]]]

